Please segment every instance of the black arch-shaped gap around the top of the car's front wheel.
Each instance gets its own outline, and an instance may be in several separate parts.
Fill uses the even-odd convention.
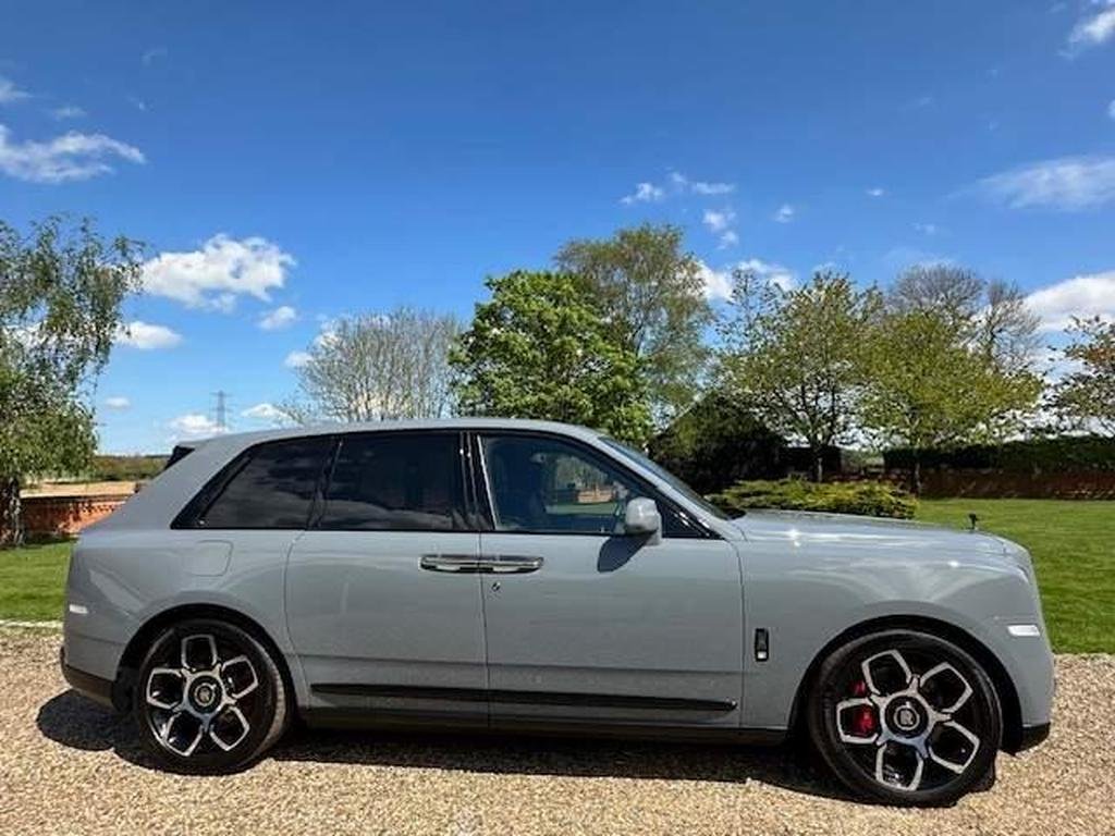
[[[931,633],[940,639],[950,641],[968,652],[987,671],[999,697],[999,706],[1002,711],[1002,743],[1004,751],[1014,755],[1021,748],[1022,742],[1022,710],[1018,701],[1018,691],[1010,680],[1007,669],[1002,667],[998,657],[992,653],[986,644],[979,641],[971,633],[950,624],[947,621],[930,619],[923,615],[885,615],[879,619],[870,619],[845,630],[825,644],[809,667],[805,670],[805,675],[797,686],[794,694],[794,704],[789,715],[789,731],[798,739],[807,739],[806,712],[804,707],[808,701],[809,691],[816,686],[817,673],[825,659],[832,652],[850,641],[859,639],[870,633],[878,633],[883,630],[918,630],[923,633]]]

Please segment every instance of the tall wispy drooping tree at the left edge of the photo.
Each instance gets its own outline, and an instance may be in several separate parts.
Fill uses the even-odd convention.
[[[22,539],[29,475],[79,470],[93,456],[89,396],[138,288],[138,256],[89,221],[50,217],[26,237],[0,222],[0,544]]]

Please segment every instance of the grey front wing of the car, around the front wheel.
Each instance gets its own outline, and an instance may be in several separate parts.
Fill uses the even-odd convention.
[[[770,654],[763,662],[750,652],[745,657],[745,726],[785,728],[798,684],[824,647],[888,616],[934,619],[966,631],[1007,669],[1022,723],[1049,721],[1053,667],[1044,626],[1037,638],[1007,631],[1010,623],[1040,623],[1040,612],[1026,572],[1001,550],[992,554],[972,542],[961,547],[942,538],[913,551],[878,534],[842,534],[838,524],[826,529],[808,515],[782,532],[756,517],[754,525],[748,517],[739,521],[747,542],[737,545],[747,634],[767,629]]]

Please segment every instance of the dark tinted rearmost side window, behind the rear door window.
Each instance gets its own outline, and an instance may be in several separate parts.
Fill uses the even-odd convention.
[[[229,480],[201,524],[206,528],[303,528],[326,457],[328,436],[260,445]]]

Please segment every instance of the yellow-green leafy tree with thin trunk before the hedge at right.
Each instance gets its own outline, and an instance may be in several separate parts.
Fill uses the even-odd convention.
[[[915,494],[925,450],[1002,440],[1040,395],[1037,375],[1007,368],[970,331],[948,310],[893,303],[870,331],[863,422],[883,444],[910,449]]]

